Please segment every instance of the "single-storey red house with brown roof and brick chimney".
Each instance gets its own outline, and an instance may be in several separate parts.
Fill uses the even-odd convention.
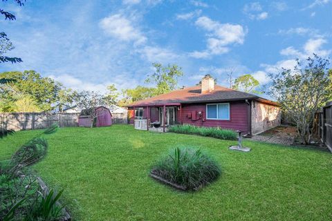
[[[280,124],[277,103],[257,95],[214,85],[205,75],[201,86],[186,87],[144,99],[129,106],[135,128],[149,130],[151,123],[214,126],[255,135]]]

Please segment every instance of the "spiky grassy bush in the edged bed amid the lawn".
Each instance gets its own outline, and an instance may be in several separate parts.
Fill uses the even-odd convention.
[[[216,180],[221,169],[208,155],[194,148],[175,148],[151,173],[187,190],[197,190]]]

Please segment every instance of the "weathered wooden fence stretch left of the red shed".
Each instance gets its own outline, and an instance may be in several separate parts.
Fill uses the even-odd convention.
[[[60,127],[78,126],[80,113],[0,113],[1,128],[6,130],[44,129],[56,123]]]

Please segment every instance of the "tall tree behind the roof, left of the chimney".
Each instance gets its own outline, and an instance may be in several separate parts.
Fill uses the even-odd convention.
[[[176,89],[178,77],[183,76],[182,68],[176,64],[163,66],[160,63],[153,63],[152,65],[156,71],[147,77],[145,83],[156,85],[156,95]]]

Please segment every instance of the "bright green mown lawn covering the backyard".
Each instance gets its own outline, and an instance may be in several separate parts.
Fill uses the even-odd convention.
[[[0,160],[39,131],[0,140]],[[48,135],[46,159],[34,166],[64,188],[75,220],[331,220],[332,155],[195,135],[136,131],[132,126],[60,128]],[[152,180],[149,167],[175,146],[201,147],[219,162],[218,181],[182,193]]]

